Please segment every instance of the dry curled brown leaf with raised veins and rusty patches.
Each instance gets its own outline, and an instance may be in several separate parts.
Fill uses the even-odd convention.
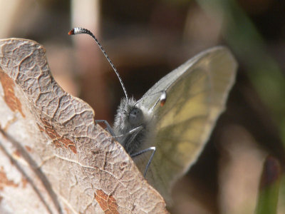
[[[35,41],[0,41],[0,213],[167,213]]]

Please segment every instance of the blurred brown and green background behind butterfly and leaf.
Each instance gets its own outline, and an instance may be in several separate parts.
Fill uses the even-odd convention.
[[[285,1],[0,0],[0,38],[43,44],[56,81],[112,124],[123,90],[89,36],[68,36],[75,26],[93,31],[135,98],[199,51],[232,50],[239,71],[227,111],[175,185],[170,211],[254,213],[266,156],[284,172]],[[281,183],[278,213],[285,213],[281,174],[267,172]]]

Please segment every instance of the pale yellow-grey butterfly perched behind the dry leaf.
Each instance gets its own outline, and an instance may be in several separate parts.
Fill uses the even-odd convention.
[[[70,32],[93,36],[82,28]],[[142,172],[147,165],[145,178],[166,201],[170,201],[173,183],[197,161],[207,143],[217,118],[225,109],[236,71],[237,61],[229,49],[217,46],[202,51],[168,73],[135,101],[128,98],[115,70],[125,98],[120,102],[113,128],[109,126],[110,133]],[[155,151],[153,158],[137,158],[151,150]]]

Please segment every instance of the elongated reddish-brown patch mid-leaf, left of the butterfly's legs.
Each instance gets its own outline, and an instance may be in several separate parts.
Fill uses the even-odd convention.
[[[53,128],[53,125],[46,121],[46,119],[41,118],[41,121],[43,122],[43,131],[48,134],[56,148],[69,148],[73,153],[77,153],[76,144],[73,141],[71,141],[69,138],[66,138],[65,136],[60,136]]]

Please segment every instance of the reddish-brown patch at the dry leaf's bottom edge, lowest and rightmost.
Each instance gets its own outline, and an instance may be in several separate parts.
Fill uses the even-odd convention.
[[[98,201],[100,207],[104,211],[104,213],[110,214],[118,214],[118,204],[113,197],[113,195],[107,195],[103,192],[103,190],[97,190],[95,194],[95,199]]]

